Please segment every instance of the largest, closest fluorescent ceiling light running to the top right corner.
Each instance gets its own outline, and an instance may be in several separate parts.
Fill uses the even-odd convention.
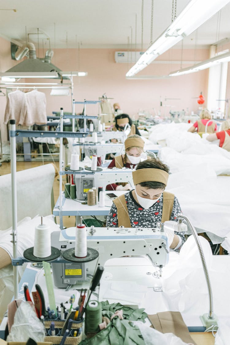
[[[173,47],[184,37],[189,36],[227,3],[229,0],[191,0],[172,24],[126,73],[126,77],[134,76],[147,67],[159,55]]]

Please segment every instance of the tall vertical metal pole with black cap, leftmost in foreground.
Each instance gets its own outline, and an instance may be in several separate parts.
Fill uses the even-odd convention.
[[[15,120],[10,120],[10,130],[15,131]],[[12,243],[13,258],[18,257],[17,245],[17,184],[16,184],[16,137],[10,137],[11,199],[12,199]],[[13,266],[14,299],[18,298],[18,267]]]

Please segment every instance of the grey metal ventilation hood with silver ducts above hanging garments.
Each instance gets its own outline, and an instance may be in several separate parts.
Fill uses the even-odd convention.
[[[17,73],[18,73],[18,78],[20,78],[20,74],[22,73],[47,73],[47,72],[57,72],[58,73],[58,78],[59,79],[69,79],[68,77],[62,77],[60,76],[61,70],[60,68],[54,66],[51,63],[51,59],[53,57],[53,51],[52,50],[47,50],[46,55],[44,58],[39,59],[36,56],[36,49],[33,43],[28,42],[27,45],[24,45],[20,47],[16,53],[15,53],[15,58],[16,60],[20,60],[29,53],[29,58],[26,60],[23,60],[22,62],[18,63],[18,65],[8,69],[5,73],[14,73],[15,78],[17,78]],[[3,76],[4,73],[1,73],[1,76]],[[42,77],[42,76],[41,76]],[[50,77],[52,78],[52,77]]]

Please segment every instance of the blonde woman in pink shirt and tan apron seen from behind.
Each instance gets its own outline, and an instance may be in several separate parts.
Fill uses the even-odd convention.
[[[188,132],[197,132],[198,134],[200,134],[200,136],[202,136],[203,133],[205,133],[205,127],[206,124],[209,120],[212,119],[212,115],[210,114],[210,112],[208,111],[208,109],[203,109],[200,113],[200,120],[196,121],[192,127],[190,127],[188,129]],[[208,123],[208,127],[207,127],[207,133],[214,133],[217,131],[217,124],[215,121],[210,121]]]

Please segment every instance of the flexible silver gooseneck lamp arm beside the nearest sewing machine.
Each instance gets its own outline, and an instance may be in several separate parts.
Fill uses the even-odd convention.
[[[204,258],[204,254],[203,254],[203,249],[201,247],[201,244],[200,244],[200,240],[199,240],[199,237],[197,235],[197,231],[196,229],[194,228],[194,226],[192,225],[192,223],[190,222],[190,220],[188,219],[188,217],[184,216],[182,213],[178,213],[177,215],[177,218],[178,219],[185,219],[192,231],[192,234],[193,236],[195,237],[195,240],[196,240],[196,244],[197,244],[197,247],[198,247],[198,250],[199,250],[199,253],[200,253],[200,258],[201,258],[201,262],[202,262],[202,265],[203,265],[203,270],[204,270],[204,275],[205,275],[205,279],[206,279],[206,283],[207,283],[207,286],[208,286],[208,294],[209,294],[209,314],[208,314],[208,318],[209,319],[213,319],[213,298],[212,298],[212,287],[211,287],[211,282],[210,282],[210,278],[209,278],[209,273],[208,273],[208,268],[207,268],[207,265],[206,265],[206,261],[205,261],[205,258]]]

